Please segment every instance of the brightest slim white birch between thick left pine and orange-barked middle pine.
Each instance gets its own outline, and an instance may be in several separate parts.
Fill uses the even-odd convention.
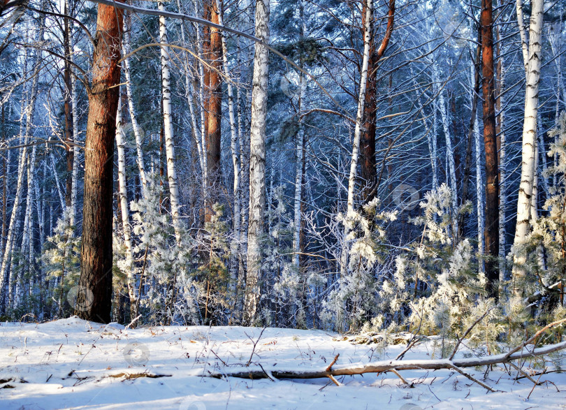
[[[159,1],[158,8],[165,10],[164,3]],[[167,159],[167,181],[169,184],[169,201],[171,217],[177,243],[181,242],[180,235],[180,205],[179,188],[177,186],[177,171],[175,169],[175,145],[173,144],[173,120],[171,118],[171,89],[169,73],[169,47],[167,43],[167,27],[165,17],[159,16],[159,43],[161,43],[161,89],[163,94],[163,122],[165,135],[165,154]]]

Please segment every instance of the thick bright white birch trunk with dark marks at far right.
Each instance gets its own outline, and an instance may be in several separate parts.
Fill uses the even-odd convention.
[[[517,4],[517,10],[520,7]],[[514,238],[513,293],[523,296],[523,280],[527,255],[525,240],[530,228],[532,184],[535,179],[535,145],[537,144],[537,112],[539,105],[539,79],[541,67],[542,20],[544,1],[532,1],[529,25],[527,86],[525,90],[525,116],[523,121],[523,149],[521,152],[521,184],[517,200],[517,223]]]

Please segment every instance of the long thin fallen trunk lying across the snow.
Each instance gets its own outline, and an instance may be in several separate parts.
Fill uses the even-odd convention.
[[[538,349],[528,350],[528,346],[523,346],[520,351],[514,353],[501,353],[498,355],[484,356],[480,358],[461,358],[461,359],[424,359],[424,360],[380,360],[373,363],[351,363],[348,365],[337,365],[334,367],[310,367],[307,369],[277,369],[275,367],[252,366],[245,368],[215,369],[208,370],[203,376],[216,377],[224,376],[240,377],[243,379],[319,379],[331,376],[351,376],[364,373],[383,373],[393,370],[439,370],[439,369],[460,369],[460,367],[476,367],[486,365],[496,365],[499,363],[509,363],[513,360],[544,356],[555,351],[566,349],[566,342],[549,344]],[[461,372],[461,371],[460,371]]]

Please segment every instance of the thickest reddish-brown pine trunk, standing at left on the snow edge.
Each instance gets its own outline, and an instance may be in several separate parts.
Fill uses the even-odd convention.
[[[120,78],[122,10],[99,5],[85,142],[85,202],[77,311],[110,322],[112,307],[113,152]]]

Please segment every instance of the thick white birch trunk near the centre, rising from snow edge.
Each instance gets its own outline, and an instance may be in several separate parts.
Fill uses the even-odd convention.
[[[256,1],[256,38],[269,43],[269,0]],[[256,43],[252,82],[252,121],[249,154],[249,225],[247,234],[247,278],[245,318],[254,322],[259,303],[261,274],[261,237],[266,209],[266,117],[269,71],[269,49]]]

